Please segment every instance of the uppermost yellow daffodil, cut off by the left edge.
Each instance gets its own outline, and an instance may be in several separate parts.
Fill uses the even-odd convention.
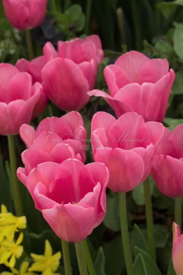
[[[14,239],[15,232],[18,229],[25,229],[27,220],[25,216],[15,217],[12,213],[8,212],[5,205],[1,205],[0,213],[0,244],[4,237],[8,240]]]

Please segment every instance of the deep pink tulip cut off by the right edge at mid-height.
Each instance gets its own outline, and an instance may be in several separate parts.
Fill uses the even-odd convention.
[[[159,191],[167,197],[183,196],[183,124],[165,136],[152,163],[151,175]]]

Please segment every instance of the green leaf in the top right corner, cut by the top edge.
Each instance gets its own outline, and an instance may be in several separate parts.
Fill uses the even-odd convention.
[[[165,18],[168,19],[174,14],[177,5],[183,6],[183,0],[175,0],[172,2],[160,2],[158,3],[157,8],[159,8],[162,11],[162,14],[165,16]]]

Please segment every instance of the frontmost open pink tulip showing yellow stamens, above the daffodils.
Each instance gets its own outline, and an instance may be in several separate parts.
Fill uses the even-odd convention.
[[[78,242],[104,219],[108,180],[103,163],[67,159],[38,165],[27,178],[27,189],[57,236]]]

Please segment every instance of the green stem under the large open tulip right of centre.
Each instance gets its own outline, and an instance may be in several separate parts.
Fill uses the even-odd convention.
[[[120,224],[121,224],[121,236],[123,242],[124,257],[126,262],[127,275],[133,275],[133,261],[130,247],[130,238],[128,232],[127,221],[127,205],[126,205],[126,193],[119,193],[119,210],[120,210]]]

